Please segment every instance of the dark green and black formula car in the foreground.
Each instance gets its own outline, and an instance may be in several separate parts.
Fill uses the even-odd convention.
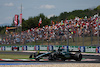
[[[53,50],[51,52],[47,53],[34,53],[34,58],[36,61],[39,61],[43,57],[48,57],[48,60],[50,61],[56,61],[56,60],[71,60],[74,59],[76,61],[81,61],[82,54],[80,51],[67,51],[64,49],[58,49]],[[30,55],[29,58],[32,58],[32,55]]]

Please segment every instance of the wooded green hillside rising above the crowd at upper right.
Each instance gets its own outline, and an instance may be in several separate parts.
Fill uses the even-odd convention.
[[[60,15],[56,18],[51,17],[50,20],[61,21],[61,20],[65,20],[65,19],[74,19],[75,17],[80,17],[80,18],[83,18],[85,16],[90,17],[97,13],[100,14],[100,5],[94,9],[74,10],[72,12],[63,12],[63,13],[60,13]]]

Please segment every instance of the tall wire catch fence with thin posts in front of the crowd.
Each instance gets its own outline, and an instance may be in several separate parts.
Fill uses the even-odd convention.
[[[0,45],[67,45],[67,46],[100,46],[100,32],[65,29],[38,30],[7,35],[0,35]],[[81,32],[81,33],[80,33]]]

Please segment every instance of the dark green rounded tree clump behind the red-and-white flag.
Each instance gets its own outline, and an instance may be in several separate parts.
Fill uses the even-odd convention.
[[[28,20],[23,21],[22,29],[27,30],[27,29],[39,27],[38,23],[40,18],[42,18],[42,24],[40,25],[40,27],[43,27],[45,25],[50,25],[49,19],[45,17],[44,14],[39,14],[36,17],[29,17]]]

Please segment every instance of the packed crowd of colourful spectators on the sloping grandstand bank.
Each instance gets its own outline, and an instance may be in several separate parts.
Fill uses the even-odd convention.
[[[53,21],[52,21],[53,22]],[[21,33],[12,32],[9,35],[0,35],[0,44],[25,44],[36,41],[59,41],[84,36],[96,36],[100,34],[100,17],[79,18],[71,20],[61,20],[50,26],[46,25],[42,28],[31,28]]]

